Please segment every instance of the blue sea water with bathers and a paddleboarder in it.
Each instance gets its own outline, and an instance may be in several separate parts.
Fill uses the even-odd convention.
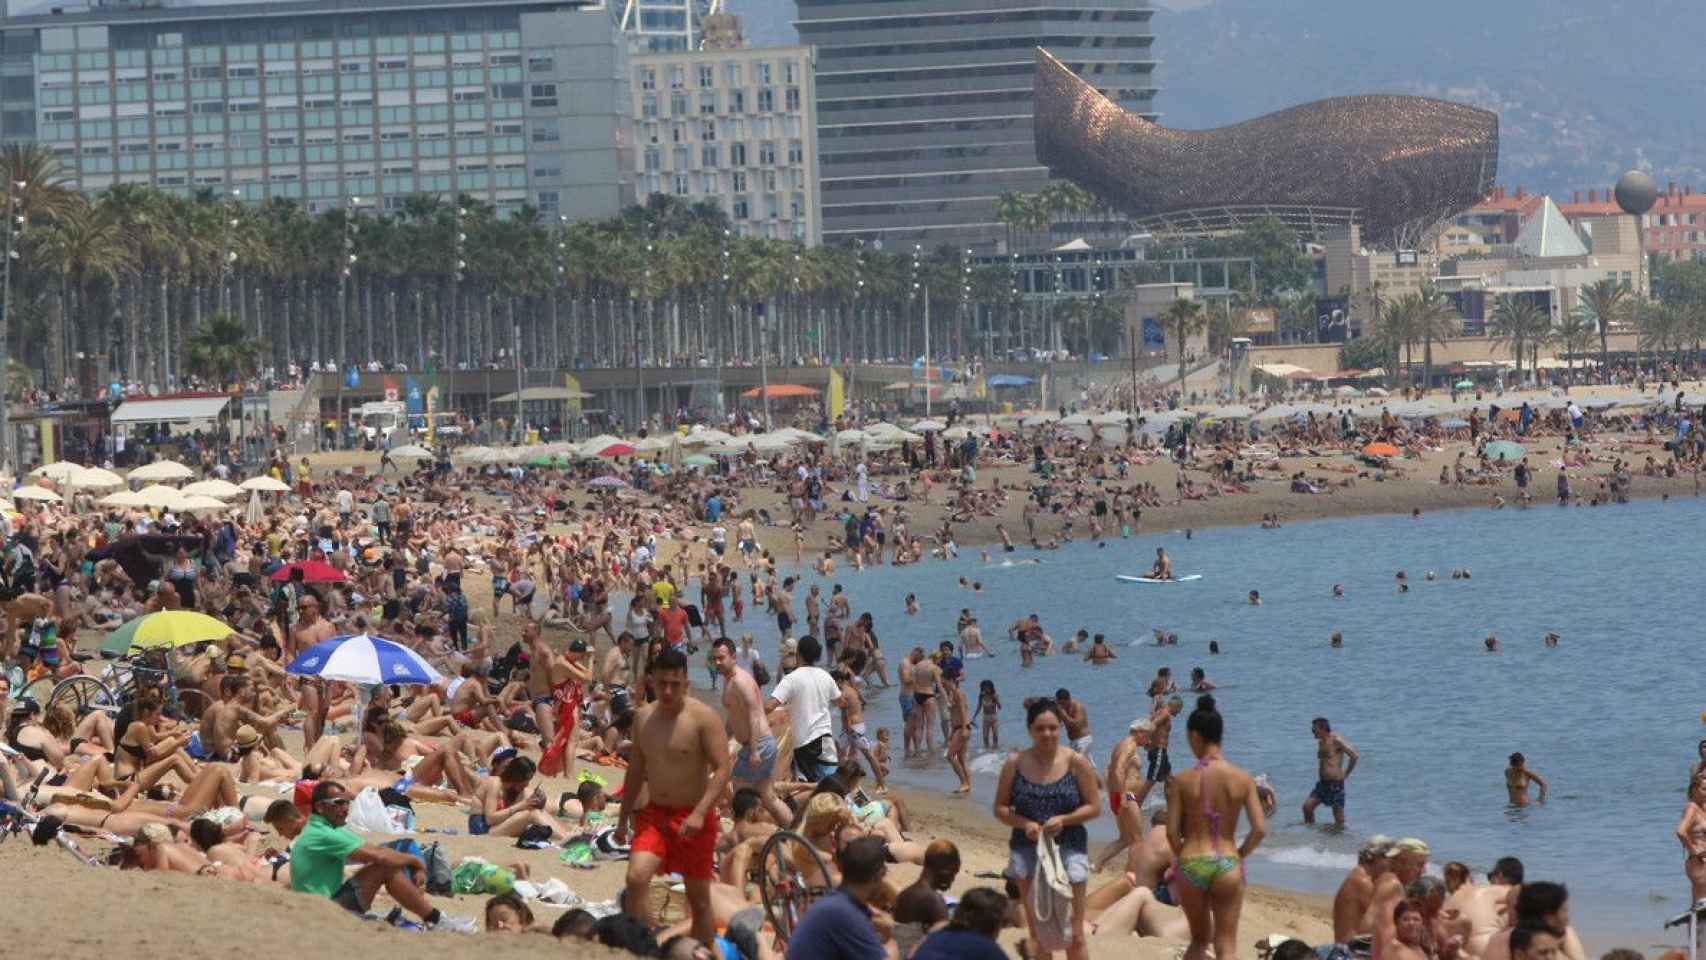
[[[1692,500],[1464,510],[1192,537],[1170,530],[1114,537],[1105,547],[996,547],[988,564],[967,549],[947,563],[843,566],[829,580],[844,587],[855,616],[873,614],[891,679],[913,646],[933,651],[954,639],[955,616],[969,607],[996,656],[967,660],[964,689],[976,706],[978,682],[995,680],[1003,749],[1029,742],[1027,696],[1066,687],[1088,706],[1100,769],[1131,720],[1146,713],[1157,668],[1172,668],[1189,714],[1194,696],[1184,687],[1191,668],[1203,667],[1220,685],[1227,755],[1266,772],[1280,795],[1252,882],[1331,892],[1370,834],[1428,841],[1435,870],[1460,859],[1481,873],[1513,854],[1529,878],[1570,885],[1576,926],[1599,948],[1614,945],[1604,940],[1612,933],[1628,945],[1660,941],[1660,922],[1687,904],[1672,830],[1706,733],[1703,522],[1706,503]],[[1203,580],[1114,580],[1145,573],[1157,546],[1177,575]],[[1454,568],[1472,578],[1452,580]],[[1426,580],[1430,570],[1438,580]],[[1404,593],[1397,571],[1407,573]],[[983,592],[959,587],[960,576]],[[800,619],[810,583],[829,595],[824,578],[807,575],[795,590]],[[1336,583],[1343,599],[1332,597]],[[1247,602],[1250,590],[1261,592],[1261,605]],[[918,595],[918,616],[906,616],[906,593]],[[1107,634],[1119,660],[1092,667],[1054,655],[1022,668],[1007,627],[1032,612],[1056,645],[1083,627]],[[775,650],[775,624],[761,621],[749,614],[730,633],[754,629],[761,648]],[[1155,646],[1155,629],[1177,633],[1179,645]],[[1334,631],[1343,648],[1329,645]],[[1547,633],[1561,634],[1558,648],[1544,646]],[[1488,634],[1498,636],[1498,653],[1484,650]],[[1210,655],[1210,641],[1220,655]],[[892,732],[897,779],[945,789],[952,774],[940,757],[901,759],[897,694],[873,689],[870,701],[872,730]],[[1343,834],[1302,822],[1315,783],[1315,716],[1361,754]],[[1551,783],[1544,805],[1508,805],[1512,752]],[[967,807],[981,813],[1000,757],[979,754],[974,732],[979,772]],[[1191,764],[1184,716],[1172,755],[1175,769]],[[1317,822],[1331,824],[1331,812],[1319,810]],[[1111,817],[1092,824],[1094,836],[1112,832]]]

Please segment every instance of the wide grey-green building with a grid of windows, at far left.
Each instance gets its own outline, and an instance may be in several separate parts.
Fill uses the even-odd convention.
[[[77,188],[309,210],[466,194],[508,215],[633,201],[626,49],[575,0],[155,3],[0,22],[0,136]]]

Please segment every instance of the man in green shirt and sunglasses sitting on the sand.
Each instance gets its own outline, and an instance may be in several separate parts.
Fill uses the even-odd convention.
[[[403,909],[418,916],[426,929],[474,931],[474,921],[438,912],[409,878],[409,870],[426,875],[426,865],[418,856],[367,846],[355,830],[343,825],[350,817],[350,793],[341,783],[322,779],[314,784],[310,810],[309,822],[290,844],[292,890],[331,897],[343,909],[365,914],[374,895],[384,888]],[[358,863],[360,868],[345,878],[345,863]]]

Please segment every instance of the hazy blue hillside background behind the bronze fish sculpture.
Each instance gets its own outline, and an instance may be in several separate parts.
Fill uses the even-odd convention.
[[[1500,114],[1500,182],[1568,196],[1629,167],[1706,186],[1699,9],[1687,0],[1163,0],[1162,123],[1204,128],[1344,94]],[[798,43],[792,0],[727,0]]]

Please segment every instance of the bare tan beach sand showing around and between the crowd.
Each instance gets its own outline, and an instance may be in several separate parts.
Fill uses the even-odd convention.
[[[1520,402],[1520,396],[1501,397],[1501,404]],[[1373,408],[1377,413],[1378,408]],[[1595,437],[1590,443],[1595,455],[1607,462],[1595,462],[1585,469],[1573,469],[1578,493],[1588,494],[1592,481],[1609,472],[1609,457],[1621,457],[1634,471],[1634,496],[1694,496],[1696,486],[1691,474],[1679,474],[1665,479],[1639,474],[1645,457],[1662,459],[1667,454],[1655,440],[1645,433],[1621,437]],[[1503,494],[1510,503],[1506,510],[1517,510],[1515,486],[1508,474],[1496,484],[1442,486],[1440,472],[1450,469],[1459,454],[1471,452],[1465,440],[1448,442],[1440,448],[1428,450],[1421,457],[1396,460],[1396,471],[1387,471],[1384,479],[1373,476],[1358,477],[1355,486],[1332,488],[1332,493],[1297,494],[1290,491],[1288,477],[1303,471],[1309,476],[1326,476],[1331,479],[1355,476],[1358,469],[1343,452],[1320,452],[1319,455],[1283,457],[1271,469],[1264,469],[1264,477],[1250,484],[1249,493],[1211,496],[1206,500],[1172,501],[1174,483],[1179,467],[1165,457],[1157,455],[1152,462],[1134,466],[1129,476],[1121,481],[1150,483],[1169,503],[1146,506],[1136,532],[1158,532],[1177,529],[1204,529],[1227,525],[1254,525],[1266,515],[1280,515],[1286,523],[1349,517],[1367,513],[1409,513],[1421,510],[1450,508],[1488,508],[1496,494]],[[1535,494],[1535,520],[1552,517],[1558,506],[1552,505],[1552,481],[1556,476],[1551,460],[1563,450],[1561,437],[1541,437],[1529,443],[1530,462],[1537,466],[1532,481]],[[324,471],[343,471],[360,467],[372,472],[379,466],[377,454],[343,452],[321,454],[310,457],[316,476]],[[1346,474],[1346,469],[1351,469]],[[1203,471],[1191,471],[1194,479],[1206,477]],[[947,477],[943,477],[945,483]],[[998,544],[998,525],[1005,525],[1015,541],[1024,541],[1024,493],[1029,488],[1030,474],[1025,466],[1005,464],[981,467],[978,486],[998,483],[1007,493],[1007,501],[989,517],[976,517],[971,522],[955,525],[962,547],[976,549]],[[839,488],[834,489],[839,493]],[[945,491],[937,486],[933,494],[913,496],[899,503],[909,515],[914,534],[935,530],[942,525],[947,506]],[[873,500],[875,503],[875,500]],[[897,505],[896,501],[882,501]],[[831,537],[839,534],[839,523],[833,513],[839,505],[829,505],[829,515],[807,529],[804,541],[804,563],[810,563],[814,554],[829,546]],[[858,505],[853,505],[858,506]],[[742,510],[769,510],[773,517],[786,515],[785,496],[775,489],[742,491]],[[1047,541],[1065,534],[1066,518],[1044,515],[1039,520],[1037,534]],[[1075,520],[1073,534],[1083,537],[1083,520]],[[706,530],[703,527],[676,527],[660,547],[662,559],[674,559],[679,547],[688,549],[688,559],[696,563],[706,556],[703,546]],[[1117,535],[1111,530],[1107,535]],[[795,537],[785,525],[768,525],[759,530],[763,544],[771,551],[783,573],[797,570]],[[674,541],[669,544],[667,541]],[[1020,546],[1020,551],[1029,547]],[[930,561],[926,559],[925,564]],[[838,576],[856,578],[858,573],[850,564],[841,564]],[[474,622],[490,617],[485,597],[490,597],[490,573],[476,568],[467,575],[469,595],[481,599],[474,602]],[[624,600],[626,597],[623,597]],[[520,621],[515,614],[503,614],[496,622],[498,648],[507,646],[519,636]],[[553,643],[566,643],[565,631],[549,631]],[[773,638],[766,636],[763,651],[771,655]],[[602,645],[599,651],[602,653]],[[703,682],[703,674],[694,670],[694,682]],[[703,691],[699,691],[703,696]],[[299,743],[299,733],[293,733]],[[288,740],[288,738],[287,738]],[[601,771],[612,784],[619,783],[619,771]],[[563,779],[544,781],[546,793],[554,800],[558,793],[572,789],[572,783]],[[955,892],[976,885],[991,883],[979,878],[979,873],[996,873],[1007,861],[1007,834],[988,807],[972,805],[967,800],[947,798],[938,793],[896,788],[908,803],[914,817],[914,837],[950,839],[962,854],[962,871],[954,887]],[[246,786],[244,793],[261,793],[280,796],[281,788]],[[452,861],[459,856],[481,856],[493,863],[524,863],[534,880],[556,876],[583,900],[601,902],[616,895],[623,880],[623,863],[602,863],[594,870],[575,870],[558,861],[554,849],[522,851],[510,841],[496,837],[471,837],[466,834],[466,812],[454,807],[418,805],[421,827],[454,829],[459,834],[426,834],[421,842],[442,841]],[[264,830],[264,825],[261,827]],[[275,846],[283,846],[271,841]],[[162,876],[143,873],[116,873],[106,870],[89,870],[56,847],[31,847],[24,839],[14,839],[0,846],[0,871],[20,882],[32,900],[65,904],[67,909],[22,911],[9,914],[7,946],[19,955],[55,955],[55,957],[109,957],[114,951],[145,950],[148,953],[176,955],[179,958],[230,957],[237,950],[247,948],[288,948],[292,953],[353,953],[362,950],[409,950],[416,957],[449,957],[466,953],[474,948],[469,941],[452,936],[415,936],[386,929],[382,924],[363,924],[329,902],[312,897],[299,897],[278,887],[251,887],[241,883],[201,880],[189,876]],[[911,883],[916,868],[899,866],[891,871],[896,885]],[[1112,873],[1097,875],[1092,888],[1111,880]],[[998,882],[993,882],[998,885]],[[438,905],[447,912],[479,917],[485,897],[438,899]],[[77,907],[70,907],[75,904]],[[679,911],[679,897],[676,911]],[[73,912],[75,911],[75,912]],[[558,916],[554,907],[539,907],[539,926],[548,929]],[[679,914],[677,914],[679,916]],[[1295,934],[1307,943],[1326,943],[1331,940],[1329,904],[1320,897],[1252,887],[1245,900],[1240,943],[1244,948],[1269,934]],[[1012,948],[1017,931],[1008,931],[1003,943]],[[401,938],[401,940],[399,940]],[[568,946],[553,943],[544,936],[500,938],[493,943],[481,936],[478,950],[491,951],[495,957],[537,955],[539,951],[589,951],[604,955],[602,948]],[[1131,936],[1097,936],[1092,940],[1092,957],[1097,960],[1136,958],[1136,960],[1172,960],[1181,950],[1181,943],[1131,938]]]

